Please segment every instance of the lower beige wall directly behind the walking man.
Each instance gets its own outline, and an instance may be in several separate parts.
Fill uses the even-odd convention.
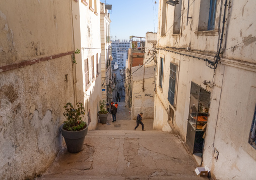
[[[137,115],[141,112],[143,113],[143,119],[154,118],[154,87],[154,78],[145,79],[144,91],[142,90],[143,80],[133,81],[133,119],[137,119]]]

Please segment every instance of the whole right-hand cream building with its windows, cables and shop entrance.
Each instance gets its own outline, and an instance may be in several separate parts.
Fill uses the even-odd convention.
[[[180,134],[217,179],[254,179],[256,2],[167,3],[159,1],[154,129]]]

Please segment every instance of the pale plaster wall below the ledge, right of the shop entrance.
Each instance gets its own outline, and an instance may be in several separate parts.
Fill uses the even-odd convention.
[[[214,141],[219,157],[209,163],[219,179],[255,179],[256,149],[248,144],[256,103],[255,80],[256,72],[225,66]],[[207,132],[206,138],[209,135]],[[207,141],[207,145],[211,143]]]

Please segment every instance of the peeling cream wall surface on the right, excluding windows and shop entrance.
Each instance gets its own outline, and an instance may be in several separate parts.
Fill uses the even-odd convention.
[[[163,2],[159,1],[159,24],[162,24]],[[203,8],[206,2],[190,1],[193,4],[189,6],[188,17],[192,18],[186,25],[188,1],[183,0],[182,12],[185,13],[181,16],[179,35],[172,34],[174,7],[167,5],[166,36],[161,36],[162,30],[158,26],[157,47],[172,47],[172,50],[188,56],[163,50],[158,52],[156,83],[159,84],[160,58],[164,58],[163,87],[156,88],[154,128],[178,133],[186,140],[191,81],[197,83],[211,93],[203,165],[210,167],[217,179],[254,179],[256,150],[248,143],[248,137],[256,103],[256,43],[253,34],[256,2],[228,1],[221,49],[224,52],[216,70],[208,68],[203,60],[193,58],[214,61],[220,43],[224,2],[217,1],[215,29],[205,31],[204,16],[209,16]],[[173,106],[167,99],[170,63],[177,65]],[[204,80],[211,83],[205,85]],[[173,124],[168,119],[170,108],[174,110]],[[219,151],[217,161],[214,158],[215,148]]]

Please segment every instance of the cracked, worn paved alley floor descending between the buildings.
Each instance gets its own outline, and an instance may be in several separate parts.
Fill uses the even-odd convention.
[[[36,179],[208,179],[198,177],[194,158],[174,134],[153,130],[134,131],[124,103],[118,102],[117,122],[98,124],[88,131],[84,148],[71,154],[64,147],[42,177]],[[120,127],[115,127],[120,124]]]

